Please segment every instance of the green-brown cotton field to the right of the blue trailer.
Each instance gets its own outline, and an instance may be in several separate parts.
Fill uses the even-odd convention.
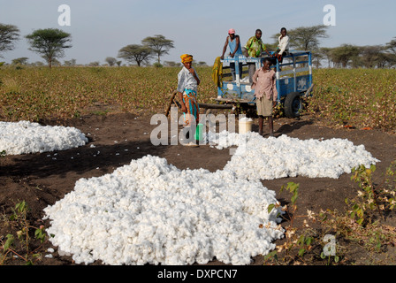
[[[332,123],[396,131],[396,70],[319,69],[308,109]]]

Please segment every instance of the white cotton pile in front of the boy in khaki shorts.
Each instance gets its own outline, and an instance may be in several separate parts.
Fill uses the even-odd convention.
[[[238,146],[225,170],[248,180],[273,180],[284,177],[337,179],[361,164],[369,167],[379,160],[346,139],[300,140],[283,134],[263,138],[253,132],[236,134],[208,133],[207,141],[217,149]]]

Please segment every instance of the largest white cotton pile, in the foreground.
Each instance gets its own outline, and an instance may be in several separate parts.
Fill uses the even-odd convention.
[[[80,179],[44,212],[47,233],[77,264],[249,264],[283,237],[275,192],[229,171],[183,170],[142,157]],[[261,225],[266,226],[261,228]]]

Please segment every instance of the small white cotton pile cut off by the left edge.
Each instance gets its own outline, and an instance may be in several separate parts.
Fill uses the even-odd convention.
[[[0,122],[0,151],[5,150],[7,155],[72,149],[87,142],[87,137],[74,127]]]

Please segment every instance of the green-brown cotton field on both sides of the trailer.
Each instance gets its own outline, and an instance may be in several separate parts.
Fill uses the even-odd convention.
[[[71,119],[105,111],[164,112],[179,67],[2,67],[0,119]],[[196,67],[201,103],[217,96],[211,67]],[[396,70],[319,69],[307,113],[336,125],[396,129]],[[106,105],[109,106],[106,109]],[[110,106],[114,106],[111,108]],[[102,108],[103,109],[103,108]]]

